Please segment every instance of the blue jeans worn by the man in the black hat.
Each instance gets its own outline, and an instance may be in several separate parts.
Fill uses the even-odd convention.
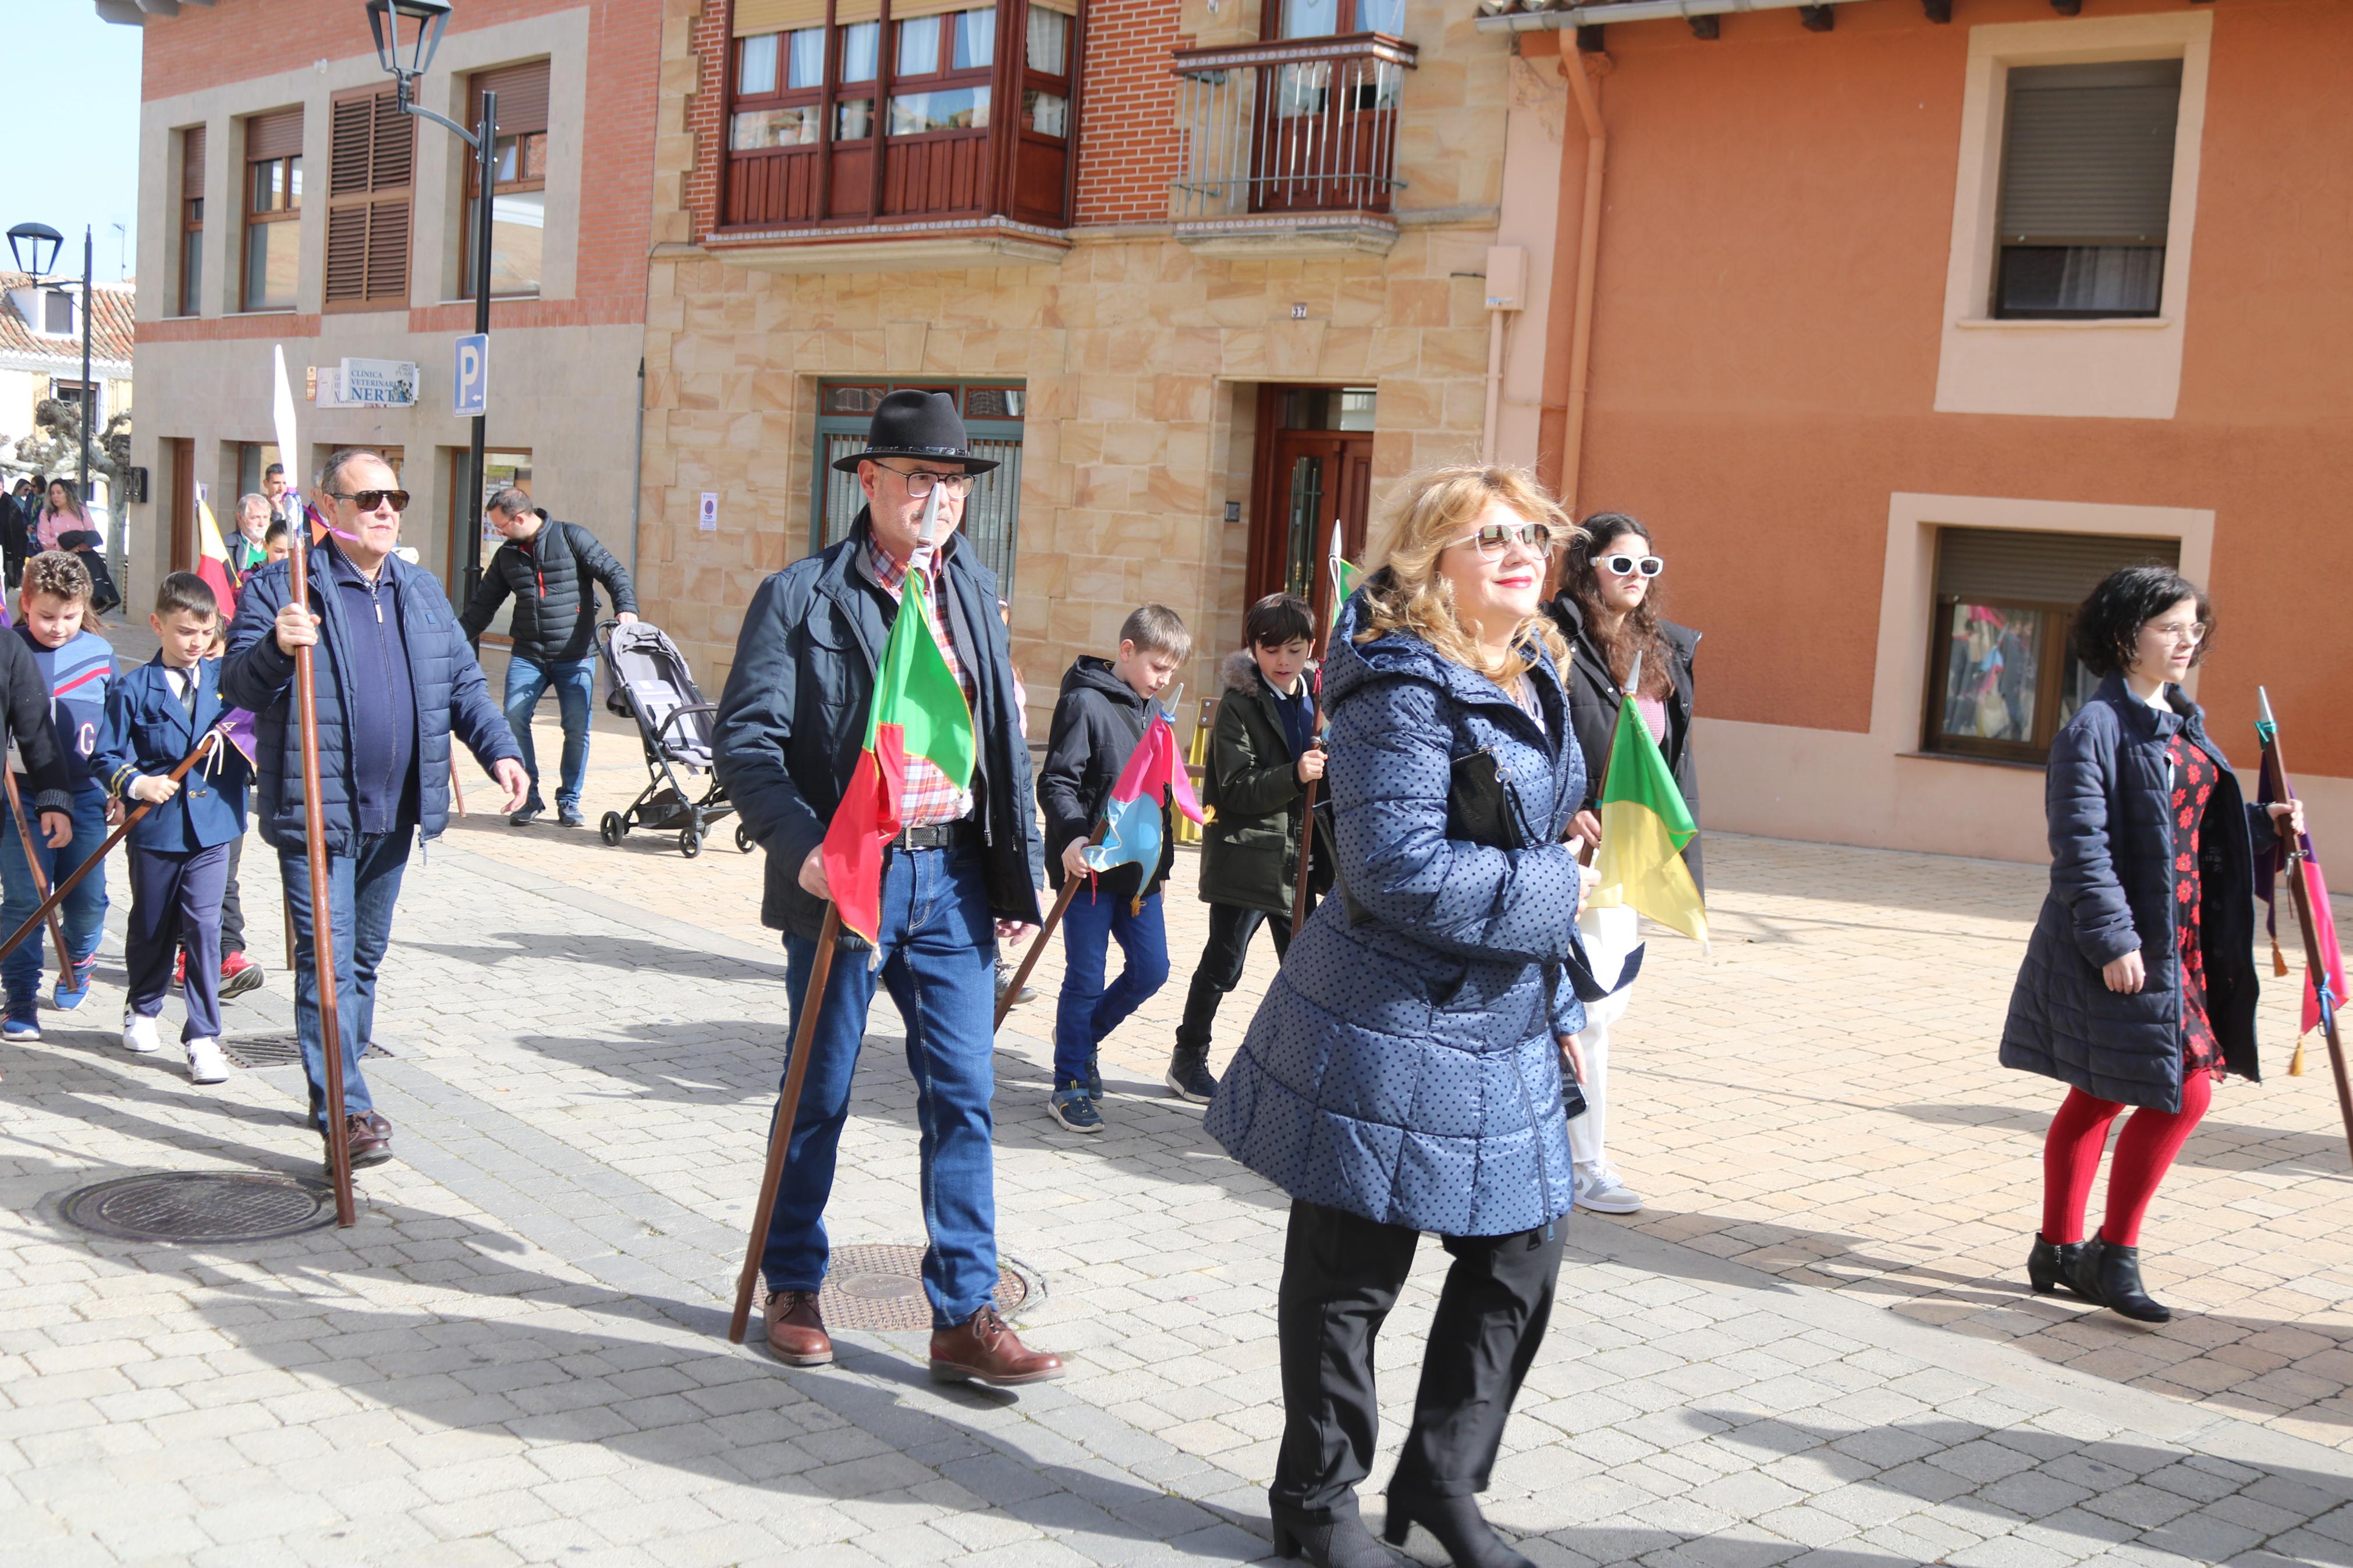
[[[866,1037],[866,1006],[880,980],[906,1020],[906,1065],[915,1074],[922,1157],[922,1293],[932,1326],[953,1328],[998,1288],[998,1199],[991,1135],[995,1119],[998,938],[976,849],[894,849],[882,863],[882,945],[838,952],[824,1011],[809,1037],[793,1143],[776,1182],[762,1274],[769,1291],[814,1291],[826,1281],[826,1197],[849,1121],[849,1077]],[[784,994],[791,1027],[809,992],[816,943],[784,938]],[[791,1039],[791,1034],[786,1037]],[[786,1063],[791,1067],[791,1063]]]

